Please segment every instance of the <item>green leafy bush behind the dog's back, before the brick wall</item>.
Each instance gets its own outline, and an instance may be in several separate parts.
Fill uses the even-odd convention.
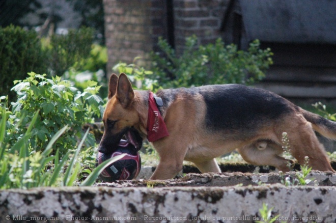
[[[181,56],[162,38],[158,45],[162,53],[152,53],[152,68],[163,88],[202,86],[221,83],[250,85],[261,80],[272,64],[269,48],[260,49],[260,42],[250,43],[247,51],[234,44],[225,45],[221,39],[215,44],[197,47],[197,37],[186,39]]]

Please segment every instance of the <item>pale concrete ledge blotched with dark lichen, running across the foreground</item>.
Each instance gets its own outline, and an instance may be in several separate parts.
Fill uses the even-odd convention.
[[[0,191],[0,222],[253,222],[263,203],[287,222],[335,222],[335,197],[335,187],[278,184],[13,189]]]

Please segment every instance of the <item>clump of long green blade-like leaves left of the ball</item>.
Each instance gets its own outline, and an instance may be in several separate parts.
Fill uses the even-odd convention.
[[[68,126],[60,129],[48,142],[43,151],[31,150],[30,138],[34,136],[33,126],[39,115],[39,111],[34,115],[32,122],[26,128],[26,132],[14,145],[6,142],[6,121],[10,113],[4,113],[0,121],[0,189],[21,188],[27,189],[41,186],[90,186],[107,165],[122,158],[123,155],[114,157],[101,163],[91,174],[79,184],[78,175],[80,162],[77,161],[78,154],[82,148],[89,129],[83,136],[77,149],[68,151],[62,159],[59,157],[59,150],[52,152],[53,144],[58,138],[65,134]],[[20,123],[20,122],[19,122]],[[19,126],[17,126],[19,127]],[[32,151],[32,152],[30,152]],[[65,167],[66,166],[66,167]]]

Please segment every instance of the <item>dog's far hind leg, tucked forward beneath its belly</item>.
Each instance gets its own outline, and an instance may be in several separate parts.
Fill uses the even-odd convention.
[[[239,148],[238,152],[248,163],[275,166],[283,172],[290,171],[290,166],[293,164],[292,160],[280,156],[283,153],[283,148],[273,142],[255,142]]]

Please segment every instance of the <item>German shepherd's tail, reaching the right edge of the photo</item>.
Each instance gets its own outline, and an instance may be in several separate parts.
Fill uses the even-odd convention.
[[[336,122],[325,119],[302,108],[300,108],[300,111],[303,117],[312,123],[312,127],[315,131],[331,140],[336,140]]]

